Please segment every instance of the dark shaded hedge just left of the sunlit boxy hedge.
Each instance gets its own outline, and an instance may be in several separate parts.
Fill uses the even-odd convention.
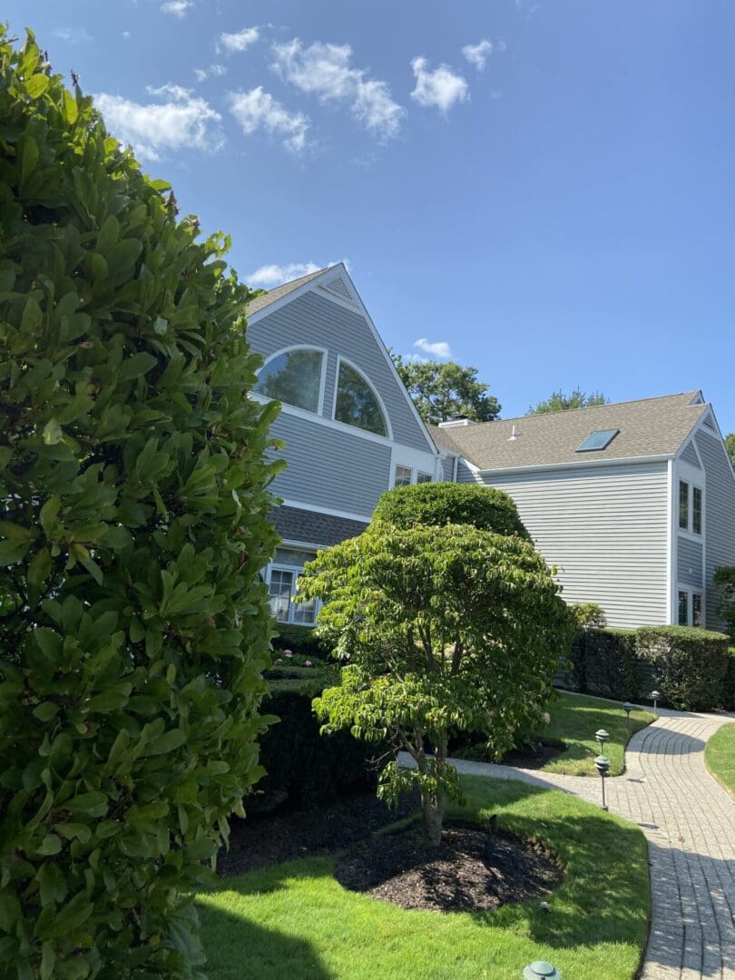
[[[573,688],[618,701],[640,697],[646,676],[631,629],[580,629],[571,645]]]

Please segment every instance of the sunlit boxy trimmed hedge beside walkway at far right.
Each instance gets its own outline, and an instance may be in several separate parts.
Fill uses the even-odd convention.
[[[638,654],[654,670],[656,686],[681,711],[719,708],[727,673],[727,637],[691,626],[643,626]]]

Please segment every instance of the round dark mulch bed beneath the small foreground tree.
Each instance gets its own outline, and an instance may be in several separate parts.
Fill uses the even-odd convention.
[[[477,911],[548,895],[564,880],[558,859],[506,831],[488,833],[460,820],[445,823],[428,849],[420,826],[372,835],[340,858],[334,877],[350,891],[404,908]]]

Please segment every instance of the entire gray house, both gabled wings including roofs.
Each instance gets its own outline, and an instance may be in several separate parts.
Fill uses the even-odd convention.
[[[248,320],[266,359],[253,397],[283,405],[266,571],[280,621],[314,622],[291,602],[299,571],[361,533],[384,490],[448,480],[515,499],[567,602],[612,626],[721,627],[711,578],[735,564],[735,474],[701,392],[429,431],[344,266],[257,297]]]

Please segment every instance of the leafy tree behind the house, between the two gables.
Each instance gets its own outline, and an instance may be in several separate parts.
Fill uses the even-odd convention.
[[[454,361],[404,361],[393,353],[391,357],[424,422],[438,425],[458,416],[488,422],[500,415],[498,399],[487,394],[488,385],[477,380],[477,368]]]

